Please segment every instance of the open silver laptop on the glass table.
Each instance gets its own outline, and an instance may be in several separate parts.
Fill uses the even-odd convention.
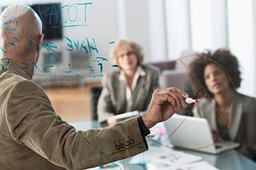
[[[210,126],[205,118],[174,114],[164,124],[168,140],[175,147],[218,154],[239,146],[230,141],[214,143]]]

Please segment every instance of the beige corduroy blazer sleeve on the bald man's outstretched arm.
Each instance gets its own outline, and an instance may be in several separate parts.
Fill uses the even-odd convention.
[[[34,82],[17,83],[8,98],[5,114],[12,138],[60,167],[96,167],[147,150],[137,118],[77,132],[55,115],[44,90]]]

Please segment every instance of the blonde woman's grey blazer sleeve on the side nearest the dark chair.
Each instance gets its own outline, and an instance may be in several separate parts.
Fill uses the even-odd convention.
[[[111,80],[107,74],[106,77],[103,77],[102,94],[100,95],[97,105],[97,114],[99,122],[105,122],[108,116],[113,113],[109,81]]]

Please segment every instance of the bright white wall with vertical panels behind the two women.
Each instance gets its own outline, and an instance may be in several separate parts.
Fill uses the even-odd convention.
[[[15,3],[1,2],[1,5]],[[72,1],[26,1],[28,3]],[[88,26],[64,28],[64,35],[74,41],[95,38],[100,54],[108,58],[110,41],[129,38],[142,45],[145,61],[177,59],[188,51],[206,48],[230,48],[241,63],[239,91],[256,96],[255,30],[253,0],[91,0]],[[54,42],[67,47],[67,41]],[[104,71],[112,69],[111,63]]]

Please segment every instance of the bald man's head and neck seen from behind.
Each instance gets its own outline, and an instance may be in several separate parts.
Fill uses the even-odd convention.
[[[32,8],[15,4],[0,16],[1,56],[13,59],[32,78],[41,50],[42,22]]]

